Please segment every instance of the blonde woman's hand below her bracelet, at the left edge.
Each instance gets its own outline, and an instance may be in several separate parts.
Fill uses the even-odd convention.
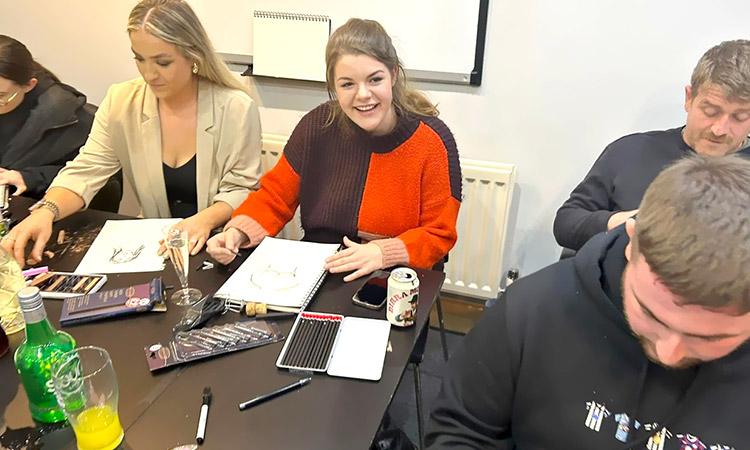
[[[40,208],[32,212],[27,218],[13,227],[7,235],[3,237],[0,244],[8,251],[22,268],[26,265],[24,252],[29,239],[34,241],[34,247],[31,249],[29,259],[34,264],[42,260],[42,251],[47,244],[49,237],[52,235],[52,222],[55,215],[47,208]]]

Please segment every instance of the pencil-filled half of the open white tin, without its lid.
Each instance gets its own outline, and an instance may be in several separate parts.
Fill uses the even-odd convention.
[[[276,366],[325,372],[343,319],[338,314],[300,313]]]

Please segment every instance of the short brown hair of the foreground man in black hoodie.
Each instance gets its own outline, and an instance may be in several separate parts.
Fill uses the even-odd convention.
[[[633,255],[683,304],[750,312],[750,161],[696,155],[662,171],[641,202]]]

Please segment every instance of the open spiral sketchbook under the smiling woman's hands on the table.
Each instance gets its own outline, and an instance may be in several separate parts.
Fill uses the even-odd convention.
[[[267,237],[216,292],[262,302],[277,311],[300,311],[323,282],[325,260],[339,244],[290,241]]]

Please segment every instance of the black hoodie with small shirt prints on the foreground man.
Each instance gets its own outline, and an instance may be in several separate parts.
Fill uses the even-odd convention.
[[[622,313],[627,243],[602,233],[508,289],[448,363],[428,447],[750,448],[750,345],[691,369],[649,362]]]

